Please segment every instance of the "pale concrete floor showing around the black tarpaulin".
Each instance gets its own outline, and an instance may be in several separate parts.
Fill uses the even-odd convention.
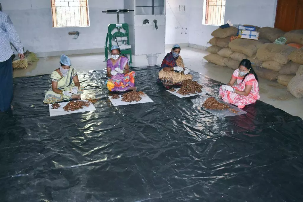
[[[170,49],[166,49],[169,52]],[[211,79],[228,83],[234,70],[228,67],[221,67],[208,63],[203,59],[208,52],[193,48],[182,48],[181,56],[184,60],[185,66],[194,71],[208,76]],[[162,62],[165,54],[159,54],[158,64]],[[104,62],[105,55],[100,54],[86,54],[70,56],[72,65],[77,71],[88,70],[102,70],[106,68]],[[133,66],[147,66],[147,59],[145,56],[133,56]],[[15,70],[14,77],[20,76],[36,76],[42,74],[50,74],[54,69],[59,67],[59,57],[45,57],[29,66],[26,70]],[[292,96],[286,86],[282,86],[277,82],[268,81],[260,78],[259,80],[261,101],[282,109],[293,116],[299,116],[303,119],[303,99],[297,99]]]

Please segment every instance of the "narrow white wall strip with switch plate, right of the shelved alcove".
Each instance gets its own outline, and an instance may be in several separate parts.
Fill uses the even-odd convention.
[[[179,11],[179,5],[185,5],[185,11]],[[166,44],[188,44],[188,19],[191,6],[191,0],[166,0]]]

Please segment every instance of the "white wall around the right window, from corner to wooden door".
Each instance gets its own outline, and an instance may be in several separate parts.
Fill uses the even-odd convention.
[[[189,43],[200,46],[209,46],[211,32],[218,28],[213,25],[203,25],[204,0],[189,0]],[[277,0],[227,0],[225,22],[230,19],[234,24],[251,24],[259,27],[273,27]]]

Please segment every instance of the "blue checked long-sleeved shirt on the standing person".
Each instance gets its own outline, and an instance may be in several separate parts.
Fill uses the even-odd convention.
[[[8,60],[13,54],[11,44],[18,53],[23,54],[23,45],[9,16],[0,11],[0,62]]]

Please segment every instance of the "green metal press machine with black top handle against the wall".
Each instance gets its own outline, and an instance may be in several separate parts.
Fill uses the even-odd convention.
[[[118,45],[121,49],[121,55],[127,57],[129,55],[129,65],[132,66],[132,46],[129,44],[129,29],[128,24],[119,23],[119,13],[126,13],[134,10],[120,9],[120,10],[106,10],[102,12],[117,13],[117,24],[108,25],[108,33],[105,41],[105,61],[108,60],[108,51],[110,52],[112,45]],[[115,32],[116,31],[116,32]]]

